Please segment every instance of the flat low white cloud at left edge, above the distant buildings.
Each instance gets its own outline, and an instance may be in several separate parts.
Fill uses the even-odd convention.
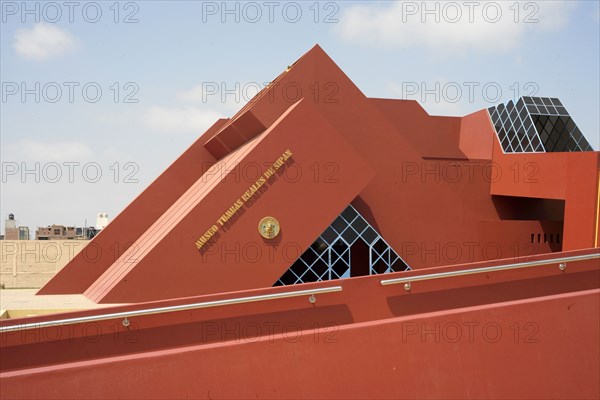
[[[85,143],[52,142],[35,139],[23,139],[6,146],[3,158],[15,158],[26,161],[77,161],[89,159],[92,151]]]

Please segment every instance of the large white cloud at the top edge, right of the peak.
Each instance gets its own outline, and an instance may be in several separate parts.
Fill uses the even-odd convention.
[[[560,29],[572,8],[567,1],[354,5],[343,11],[334,31],[348,42],[369,46],[424,47],[443,54],[498,52],[516,48],[536,30]]]

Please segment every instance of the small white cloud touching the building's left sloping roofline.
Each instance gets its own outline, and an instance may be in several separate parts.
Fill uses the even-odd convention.
[[[143,119],[146,126],[157,131],[199,135],[221,117],[221,114],[210,109],[153,106],[146,110]]]

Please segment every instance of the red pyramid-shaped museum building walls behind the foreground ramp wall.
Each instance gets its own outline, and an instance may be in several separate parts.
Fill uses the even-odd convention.
[[[225,254],[199,267],[206,257],[194,242],[245,190],[214,181],[207,166],[222,159],[264,167],[286,148],[302,180],[272,185],[218,240]],[[355,158],[364,162],[351,168]],[[597,152],[505,155],[486,110],[435,117],[415,101],[369,99],[315,46],[205,132],[40,294],[130,302],[271,286],[291,254],[260,270],[229,260],[255,243],[257,220],[278,213],[281,240],[293,237],[301,253],[350,197],[413,269],[595,247],[598,162]],[[363,170],[374,172],[368,182]],[[309,175],[328,184],[307,188]],[[265,246],[253,251],[264,255]],[[165,269],[174,272],[157,279]]]

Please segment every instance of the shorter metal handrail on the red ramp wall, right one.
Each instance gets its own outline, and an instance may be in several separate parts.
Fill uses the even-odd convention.
[[[580,256],[571,256],[571,257],[563,257],[563,258],[555,258],[552,260],[528,261],[528,262],[515,263],[515,264],[496,265],[493,267],[462,269],[459,271],[439,272],[439,273],[435,273],[435,274],[409,276],[409,277],[405,277],[405,278],[383,279],[383,280],[381,280],[380,283],[382,285],[396,285],[398,283],[411,283],[411,282],[416,282],[416,281],[426,281],[426,280],[431,280],[431,279],[450,278],[453,276],[462,276],[462,275],[482,274],[482,273],[494,272],[494,271],[506,271],[506,270],[511,270],[511,269],[537,267],[537,266],[557,264],[557,263],[562,264],[562,263],[567,263],[567,262],[571,262],[571,261],[592,260],[594,258],[600,258],[600,253],[584,254],[584,255],[580,255]]]

